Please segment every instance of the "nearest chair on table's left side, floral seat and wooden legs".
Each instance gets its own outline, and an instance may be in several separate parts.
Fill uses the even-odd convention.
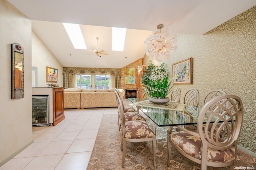
[[[116,95],[118,95],[117,91],[115,91],[115,93]],[[156,169],[156,134],[145,121],[141,121],[141,120],[126,121],[124,111],[122,109],[123,103],[119,97],[118,97],[118,105],[120,105],[118,109],[119,109],[120,118],[121,118],[120,134],[122,136],[122,142],[121,142],[122,168],[124,168],[127,142],[152,141],[153,162],[154,162],[154,168]]]

